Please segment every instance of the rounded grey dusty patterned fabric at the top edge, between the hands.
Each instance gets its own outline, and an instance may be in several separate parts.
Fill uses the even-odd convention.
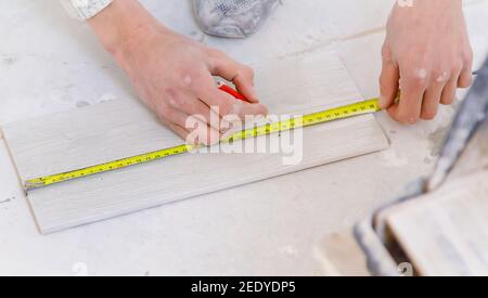
[[[254,34],[278,0],[193,0],[193,13],[202,30],[209,35],[244,38]]]

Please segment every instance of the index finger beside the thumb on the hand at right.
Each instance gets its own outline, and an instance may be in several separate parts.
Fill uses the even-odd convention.
[[[401,78],[401,95],[398,104],[391,105],[387,111],[391,118],[403,124],[415,124],[422,111],[422,100],[426,89],[426,77],[407,76]]]

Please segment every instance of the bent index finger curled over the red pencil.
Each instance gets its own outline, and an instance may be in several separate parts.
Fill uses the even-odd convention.
[[[254,70],[251,67],[220,52],[214,57],[211,66],[213,75],[232,81],[237,88],[237,91],[251,103],[259,102],[254,88]]]

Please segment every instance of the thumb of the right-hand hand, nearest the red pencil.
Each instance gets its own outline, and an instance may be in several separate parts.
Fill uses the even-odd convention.
[[[400,72],[398,65],[390,60],[383,61],[382,74],[380,76],[380,107],[382,109],[390,107],[395,104],[398,94],[398,85]]]

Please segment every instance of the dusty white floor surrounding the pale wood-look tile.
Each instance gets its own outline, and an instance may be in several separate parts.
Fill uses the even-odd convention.
[[[364,98],[377,93],[393,0],[282,0],[246,40],[200,33],[189,1],[142,1],[168,26],[247,63],[335,48]],[[488,53],[488,1],[466,2],[476,65]],[[130,100],[124,75],[82,23],[52,0],[0,2],[0,125],[101,101]],[[452,108],[402,127],[380,114],[385,152],[41,236],[0,140],[0,275],[321,274],[313,251],[428,173]]]

